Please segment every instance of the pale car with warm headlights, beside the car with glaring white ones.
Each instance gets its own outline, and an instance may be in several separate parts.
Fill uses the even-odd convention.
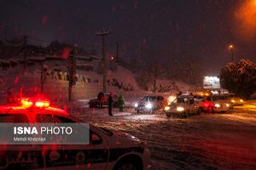
[[[201,114],[201,102],[196,101],[193,95],[179,95],[164,111],[167,117]]]

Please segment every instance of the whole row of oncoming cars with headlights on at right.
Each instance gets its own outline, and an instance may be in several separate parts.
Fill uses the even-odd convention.
[[[171,101],[170,101],[171,99]],[[240,99],[240,98],[238,98]],[[241,100],[241,99],[240,99]],[[243,102],[243,100],[242,100]],[[242,105],[240,101],[240,105]],[[234,95],[179,93],[177,96],[144,96],[134,104],[137,113],[165,113],[167,117],[187,117],[205,113],[231,113],[234,107]]]

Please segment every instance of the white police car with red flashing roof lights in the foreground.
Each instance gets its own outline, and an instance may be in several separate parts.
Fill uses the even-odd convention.
[[[2,105],[0,122],[80,122],[44,102],[26,100],[22,105]],[[147,144],[130,134],[93,125],[90,125],[90,144],[4,144],[0,146],[0,157],[0,169],[150,168]]]

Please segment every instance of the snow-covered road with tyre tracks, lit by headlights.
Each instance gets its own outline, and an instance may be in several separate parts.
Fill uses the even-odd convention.
[[[152,169],[256,169],[256,113],[202,114],[187,119],[133,111],[79,111],[98,126],[131,133],[148,143]]]

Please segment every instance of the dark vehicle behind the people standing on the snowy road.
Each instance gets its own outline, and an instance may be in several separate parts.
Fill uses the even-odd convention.
[[[110,94],[103,94],[104,95],[104,102],[102,103],[103,107],[108,107],[108,97]],[[97,98],[90,99],[89,102],[90,108],[100,108],[101,101]],[[113,107],[119,107],[118,96],[113,94]]]

